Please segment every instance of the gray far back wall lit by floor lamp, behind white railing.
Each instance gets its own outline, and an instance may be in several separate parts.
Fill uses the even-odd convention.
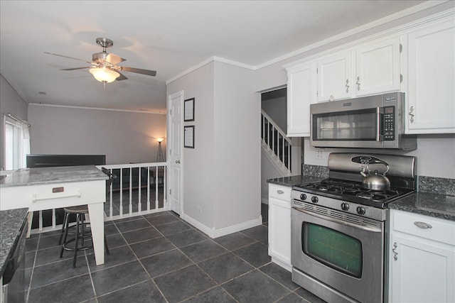
[[[28,120],[31,153],[106,155],[106,164],[156,162],[156,138],[166,138],[166,114],[31,104]]]

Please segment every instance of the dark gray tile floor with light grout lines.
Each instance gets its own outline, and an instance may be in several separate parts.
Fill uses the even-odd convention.
[[[105,224],[110,255],[92,250],[76,268],[58,258],[58,231],[27,240],[26,293],[38,302],[323,302],[291,282],[267,254],[264,224],[211,239],[171,211]]]

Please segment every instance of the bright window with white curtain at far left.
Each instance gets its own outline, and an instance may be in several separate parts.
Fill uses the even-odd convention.
[[[5,118],[5,170],[26,167],[26,155],[30,153],[28,124]]]

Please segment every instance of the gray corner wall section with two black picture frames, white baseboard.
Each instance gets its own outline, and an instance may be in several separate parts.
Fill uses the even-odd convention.
[[[195,148],[183,150],[183,212],[217,231],[260,216],[260,96],[254,72],[210,62],[168,84],[196,98]],[[201,213],[197,209],[200,207]]]

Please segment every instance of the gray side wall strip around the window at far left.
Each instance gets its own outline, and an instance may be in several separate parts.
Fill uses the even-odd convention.
[[[28,119],[27,114],[27,106],[28,104],[26,101],[23,101],[21,96],[19,96],[16,90],[11,87],[8,81],[0,75],[0,113],[1,114],[11,114],[15,116],[17,119],[21,119],[26,121]],[[0,142],[1,146],[4,146],[5,142],[5,132],[4,132],[4,125],[3,125],[3,116],[0,123]],[[5,167],[4,162],[4,148],[0,148],[0,168],[3,170]]]

